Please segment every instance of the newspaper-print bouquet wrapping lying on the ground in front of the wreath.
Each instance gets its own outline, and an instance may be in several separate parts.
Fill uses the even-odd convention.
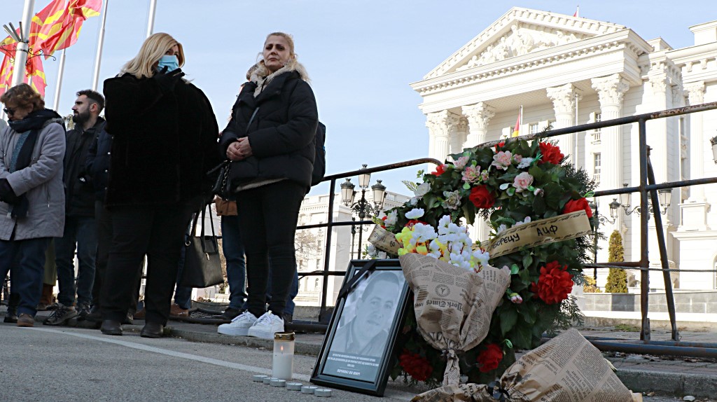
[[[500,387],[511,402],[639,402],[612,372],[607,360],[577,330],[568,330],[531,350],[505,370]],[[493,390],[478,384],[443,386],[412,401],[495,402]]]

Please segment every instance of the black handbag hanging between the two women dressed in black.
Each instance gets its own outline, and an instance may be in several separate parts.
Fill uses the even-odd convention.
[[[209,208],[209,221],[212,234],[204,234],[204,213]],[[224,283],[222,262],[219,261],[219,242],[214,233],[214,220],[212,219],[211,204],[201,210],[201,234],[196,236],[196,224],[199,214],[194,214],[191,223],[189,239],[184,243],[184,267],[179,279],[179,286],[183,287],[211,287]]]

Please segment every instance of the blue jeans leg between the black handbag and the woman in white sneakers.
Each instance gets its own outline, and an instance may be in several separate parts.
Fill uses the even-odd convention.
[[[229,308],[246,308],[247,264],[244,260],[244,243],[239,233],[239,216],[222,216],[222,250],[227,259],[229,282]]]

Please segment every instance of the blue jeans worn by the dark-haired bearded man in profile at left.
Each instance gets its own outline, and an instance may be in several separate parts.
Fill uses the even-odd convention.
[[[97,226],[95,218],[65,216],[65,233],[54,240],[54,262],[60,294],[57,301],[66,306],[75,304],[75,244],[80,267],[77,272],[77,303],[92,302],[97,256]]]

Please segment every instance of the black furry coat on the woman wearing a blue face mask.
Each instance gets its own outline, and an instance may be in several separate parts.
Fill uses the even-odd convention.
[[[217,120],[204,92],[125,74],[105,80],[105,130],[113,136],[105,205],[166,205],[211,196],[206,175],[221,162]]]

